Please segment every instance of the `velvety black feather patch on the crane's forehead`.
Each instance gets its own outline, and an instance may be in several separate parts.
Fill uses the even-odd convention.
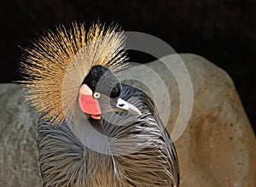
[[[93,92],[98,92],[110,96],[119,97],[121,84],[117,77],[107,67],[95,65],[84,78],[83,84],[87,84]]]

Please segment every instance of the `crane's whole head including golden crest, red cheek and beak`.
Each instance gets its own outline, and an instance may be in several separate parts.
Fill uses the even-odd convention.
[[[78,107],[94,119],[108,111],[139,113],[119,99],[114,73],[125,68],[124,46],[119,26],[95,23],[87,30],[73,23],[49,31],[25,49],[20,63],[26,99],[54,126],[72,119]]]

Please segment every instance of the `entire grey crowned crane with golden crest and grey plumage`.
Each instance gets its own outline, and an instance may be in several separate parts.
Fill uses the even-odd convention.
[[[25,49],[26,99],[39,114],[43,186],[178,186],[172,139],[154,101],[119,82],[125,71],[119,26],[73,23]]]

